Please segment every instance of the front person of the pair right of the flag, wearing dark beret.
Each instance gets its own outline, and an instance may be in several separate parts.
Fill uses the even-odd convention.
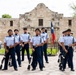
[[[64,37],[64,41],[62,43],[62,47],[66,52],[65,60],[63,63],[63,71],[66,69],[66,63],[69,61],[70,62],[70,69],[71,71],[74,71],[74,66],[73,66],[73,46],[75,45],[75,38],[73,36],[70,36],[71,34],[71,29],[67,30],[67,36]]]

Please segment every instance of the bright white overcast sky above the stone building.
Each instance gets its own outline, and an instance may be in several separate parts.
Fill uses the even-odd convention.
[[[73,10],[70,6],[76,4],[76,0],[0,0],[0,18],[3,14],[19,18],[19,14],[33,10],[39,3],[44,3],[50,10],[62,13],[65,17],[71,17]]]

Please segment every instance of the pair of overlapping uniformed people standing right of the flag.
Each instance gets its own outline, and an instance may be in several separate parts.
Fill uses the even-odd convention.
[[[61,36],[58,40],[59,43],[59,49],[60,49],[60,56],[64,56],[61,59],[61,66],[59,66],[59,69],[61,71],[65,71],[66,64],[68,64],[68,67],[71,71],[74,70],[74,64],[73,64],[73,47],[76,46],[76,39],[73,37],[73,33],[71,32],[71,29],[67,29],[62,32],[63,36]]]

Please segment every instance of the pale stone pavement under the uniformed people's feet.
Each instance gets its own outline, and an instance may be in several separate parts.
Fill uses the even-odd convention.
[[[0,56],[0,60],[2,57],[3,56]],[[59,71],[57,59],[58,56],[49,57],[49,64],[45,63],[46,68],[44,68],[43,71],[40,71],[38,67],[36,71],[28,71],[28,62],[27,57],[25,56],[25,61],[22,62],[22,67],[19,67],[18,71],[14,71],[12,67],[9,67],[7,71],[0,71],[0,75],[76,75],[76,71],[71,72],[68,67],[65,72]],[[74,66],[76,70],[76,52],[74,53]]]

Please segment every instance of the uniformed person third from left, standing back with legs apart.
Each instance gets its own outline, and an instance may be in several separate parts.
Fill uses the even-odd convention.
[[[27,28],[23,28],[24,33],[21,34],[22,37],[22,61],[24,61],[24,54],[25,50],[27,52],[28,61],[30,60],[30,53],[29,53],[29,42],[30,42],[30,34],[27,33]]]

